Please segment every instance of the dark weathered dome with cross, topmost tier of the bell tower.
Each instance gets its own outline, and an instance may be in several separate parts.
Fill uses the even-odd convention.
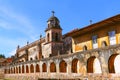
[[[52,11],[53,15],[47,21],[48,25],[47,25],[46,31],[49,30],[49,29],[62,29],[60,27],[60,24],[59,24],[60,21],[59,21],[59,19],[56,16],[54,16],[54,13],[55,12]]]

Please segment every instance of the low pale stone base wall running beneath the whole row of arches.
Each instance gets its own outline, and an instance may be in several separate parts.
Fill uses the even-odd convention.
[[[66,74],[66,73],[30,73],[30,74],[5,74],[11,80],[120,80],[120,74]]]

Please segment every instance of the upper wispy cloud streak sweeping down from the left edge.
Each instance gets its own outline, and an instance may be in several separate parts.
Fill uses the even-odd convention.
[[[34,39],[34,35],[36,35],[36,29],[30,19],[8,7],[0,6],[0,27],[19,31],[31,39]]]

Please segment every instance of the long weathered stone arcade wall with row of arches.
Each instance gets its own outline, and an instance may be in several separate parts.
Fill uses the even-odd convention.
[[[83,79],[83,80],[120,80],[120,75],[114,70],[113,64],[111,62],[114,57],[120,55],[120,45],[108,46],[105,48],[98,48],[94,50],[88,50],[83,52],[78,52],[74,54],[59,55],[56,57],[46,58],[36,61],[28,61],[19,64],[12,64],[6,69],[8,73],[5,74],[5,78],[12,78],[12,80],[38,80],[40,78],[45,79]],[[113,56],[113,58],[111,58]],[[101,73],[95,73],[94,69],[98,67],[93,67],[94,60],[99,60]],[[77,62],[76,62],[77,61]],[[88,63],[90,61],[90,64]],[[56,65],[56,71],[51,71],[51,63]],[[109,64],[110,62],[110,64]],[[43,64],[46,64],[47,71],[43,71]],[[65,63],[65,64],[64,64]],[[74,64],[75,63],[75,64]],[[76,64],[76,63],[79,63]],[[36,65],[39,65],[40,71],[36,72]],[[62,66],[61,66],[62,64]],[[33,68],[31,67],[33,65]],[[66,65],[66,66],[65,66]],[[22,68],[24,66],[24,69]],[[29,67],[29,73],[27,73],[26,66]],[[79,67],[77,67],[79,66]],[[92,67],[90,67],[92,66]],[[66,67],[66,68],[65,68]],[[111,69],[109,67],[112,67]],[[19,68],[19,70],[17,70]],[[15,70],[14,70],[15,69]],[[65,71],[61,71],[65,69]],[[14,70],[14,71],[12,71]],[[22,73],[22,70],[24,72]],[[33,72],[31,70],[34,70]],[[88,70],[90,70],[88,72]],[[17,72],[18,71],[18,72]],[[114,74],[112,74],[113,72]]]

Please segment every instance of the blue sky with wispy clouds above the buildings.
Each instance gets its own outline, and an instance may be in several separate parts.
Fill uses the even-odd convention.
[[[119,0],[0,0],[0,54],[10,57],[45,37],[47,20],[55,11],[62,34],[120,13]]]

